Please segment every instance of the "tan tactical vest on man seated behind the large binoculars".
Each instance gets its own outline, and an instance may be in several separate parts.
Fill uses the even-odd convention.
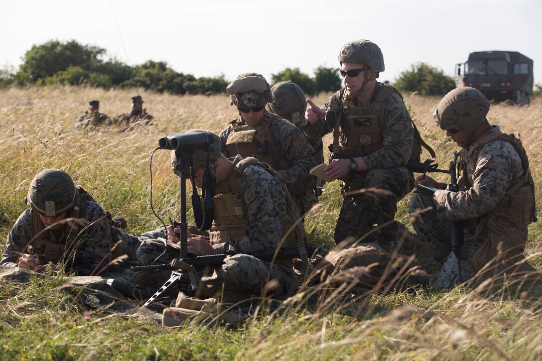
[[[270,175],[279,179],[286,200],[286,204],[281,207],[283,236],[281,247],[287,250],[298,249],[301,259],[305,262],[307,257],[305,229],[300,220],[299,211],[288,193],[286,184],[279,173],[253,157],[243,158],[234,163],[228,179],[216,185],[216,195],[213,198],[215,216],[211,225],[210,243],[216,244],[238,240],[250,234],[247,204],[244,202],[241,185],[241,175],[249,165],[261,166]]]

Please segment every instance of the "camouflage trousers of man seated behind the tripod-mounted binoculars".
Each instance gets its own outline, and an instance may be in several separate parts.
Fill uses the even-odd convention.
[[[169,241],[145,240],[139,246],[137,256],[145,266],[170,263],[179,258],[179,246]],[[248,295],[286,298],[298,287],[291,263],[273,265],[246,254],[228,256],[220,267],[200,272],[199,276],[212,293],[236,291]],[[156,285],[159,286],[162,285]]]

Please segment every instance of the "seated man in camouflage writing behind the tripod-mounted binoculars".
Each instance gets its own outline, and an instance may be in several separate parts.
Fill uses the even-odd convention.
[[[220,153],[220,138],[212,133],[203,133],[212,139],[209,163],[211,167],[212,164],[216,166],[214,220],[209,240],[189,235],[187,248],[189,253],[196,255],[232,254],[221,267],[201,274],[203,284],[212,293],[220,293],[223,287],[224,291],[261,295],[269,285],[268,281],[272,281],[276,282],[272,292],[274,297],[290,295],[298,285],[291,261],[272,264],[247,253],[274,252],[280,245],[286,246],[282,243],[283,229],[289,228],[293,218],[298,216],[295,206],[288,207],[281,183],[256,159],[243,159],[241,156],[227,159]],[[194,151],[192,160],[197,169],[194,181],[201,187],[207,153]],[[295,214],[289,215],[290,211]],[[289,223],[285,222],[286,217],[289,217]],[[302,226],[296,227],[292,234],[296,231],[296,239],[302,242]],[[179,238],[171,226],[163,237],[169,241],[147,240],[141,243],[137,252],[140,263],[169,263],[179,257],[180,248],[176,244]]]

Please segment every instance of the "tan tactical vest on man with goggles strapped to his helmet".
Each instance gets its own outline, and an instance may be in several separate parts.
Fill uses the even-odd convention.
[[[254,157],[261,163],[269,164],[274,170],[286,170],[290,167],[288,159],[281,157],[269,131],[269,125],[279,115],[264,112],[256,125],[236,125],[231,121],[230,134],[226,149],[231,157],[241,154],[243,158]]]

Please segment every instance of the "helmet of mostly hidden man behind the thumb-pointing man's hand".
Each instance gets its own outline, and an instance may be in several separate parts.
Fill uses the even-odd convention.
[[[273,102],[267,104],[269,112],[294,124],[304,116],[307,109],[307,97],[301,88],[291,81],[279,81],[271,88]]]

